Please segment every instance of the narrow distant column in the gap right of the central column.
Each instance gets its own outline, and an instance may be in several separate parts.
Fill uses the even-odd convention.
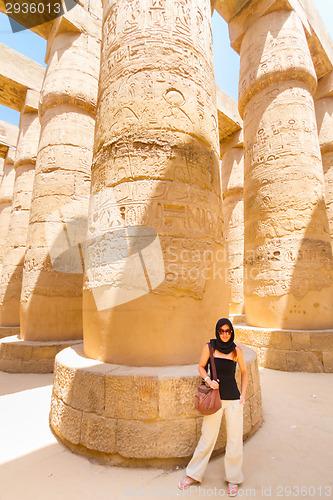
[[[223,218],[228,253],[230,314],[244,313],[244,150],[232,148],[222,157]]]

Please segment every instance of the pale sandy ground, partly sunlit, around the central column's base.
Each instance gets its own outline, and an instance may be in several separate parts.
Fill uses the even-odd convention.
[[[244,445],[239,498],[333,498],[333,374],[260,370],[264,423]],[[52,375],[0,372],[0,499],[228,498],[223,456],[200,487],[184,471],[100,465],[60,444],[48,427]]]

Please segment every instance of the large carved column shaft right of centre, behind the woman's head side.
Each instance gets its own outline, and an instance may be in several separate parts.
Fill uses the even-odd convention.
[[[332,326],[332,251],[315,87],[295,12],[272,12],[255,21],[242,42],[239,85],[249,325]]]

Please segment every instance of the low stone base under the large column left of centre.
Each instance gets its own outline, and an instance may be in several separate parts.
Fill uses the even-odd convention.
[[[18,335],[0,340],[0,370],[9,373],[52,373],[54,358],[65,347],[82,340],[37,342]]]

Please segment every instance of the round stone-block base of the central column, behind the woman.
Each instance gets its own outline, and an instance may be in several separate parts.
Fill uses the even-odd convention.
[[[243,349],[247,438],[261,425],[262,406],[256,353]],[[55,359],[51,429],[72,451],[104,463],[184,465],[200,437],[202,416],[193,404],[200,379],[197,365],[120,366],[86,357],[82,345],[64,349]],[[224,449],[223,418],[215,453]]]

